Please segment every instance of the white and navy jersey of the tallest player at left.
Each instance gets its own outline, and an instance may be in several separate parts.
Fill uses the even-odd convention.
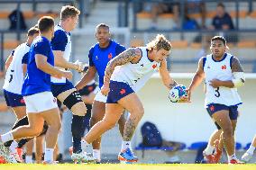
[[[58,32],[59,33],[56,33]],[[69,61],[69,58],[70,58],[70,54],[71,54],[71,38],[70,38],[70,33],[69,32],[66,32],[64,31],[59,25],[56,25],[55,28],[54,28],[54,38],[52,41],[54,40],[57,40],[57,41],[61,41],[63,39],[66,39],[67,37],[67,44],[61,44],[59,45],[58,43],[55,44],[54,42],[52,43],[51,42],[51,45],[52,46],[65,46],[65,49],[64,49],[64,54],[63,54],[63,58],[65,58],[67,61]],[[61,32],[61,33],[60,33]],[[57,48],[57,49],[56,49]],[[58,47],[52,47],[52,50],[59,50]],[[59,69],[62,69],[64,70],[64,68],[61,68],[61,67],[58,67]],[[64,84],[66,83],[66,78],[65,77],[62,77],[62,78],[56,78],[56,77],[50,77],[50,81],[54,84]]]

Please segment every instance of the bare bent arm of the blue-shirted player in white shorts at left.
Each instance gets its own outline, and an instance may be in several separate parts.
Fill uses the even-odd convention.
[[[50,74],[51,76],[55,76],[58,78],[66,77],[71,79],[72,74],[69,71],[61,71],[55,67],[52,67],[48,62],[47,62],[47,57],[41,54],[36,54],[35,55],[35,62],[36,66],[41,69],[41,71]]]

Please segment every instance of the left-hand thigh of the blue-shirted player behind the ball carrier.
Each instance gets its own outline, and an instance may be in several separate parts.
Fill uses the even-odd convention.
[[[92,107],[92,121],[101,121],[105,115],[105,103],[94,101]]]

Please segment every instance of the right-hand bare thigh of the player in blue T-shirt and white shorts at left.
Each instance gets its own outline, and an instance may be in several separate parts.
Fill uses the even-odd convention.
[[[58,129],[60,128],[60,115],[58,107],[41,112],[40,114],[49,126],[56,127]]]

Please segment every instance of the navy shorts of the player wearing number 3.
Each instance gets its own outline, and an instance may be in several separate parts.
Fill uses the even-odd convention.
[[[213,117],[213,114],[218,111],[229,111],[229,117],[231,120],[237,120],[238,117],[238,111],[237,111],[237,105],[234,106],[226,106],[224,104],[219,103],[212,103],[209,104],[206,108],[207,112],[210,114],[211,117]]]

